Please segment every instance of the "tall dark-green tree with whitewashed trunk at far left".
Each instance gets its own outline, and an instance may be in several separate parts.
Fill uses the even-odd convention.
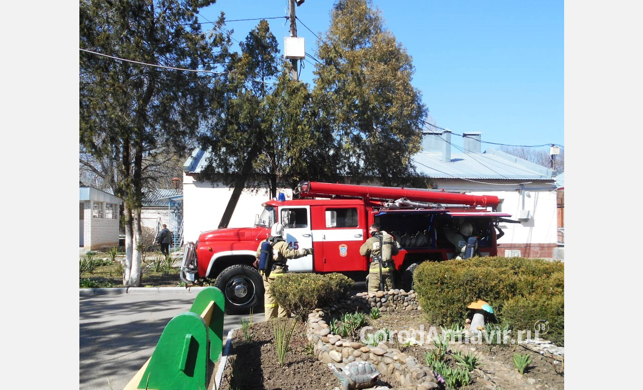
[[[141,233],[144,186],[163,175],[167,156],[185,152],[225,84],[212,73],[167,69],[224,70],[217,64],[227,62],[231,40],[223,15],[207,35],[199,23],[199,9],[214,2],[80,2],[80,164],[123,200],[127,240]],[[140,283],[138,261],[125,258],[127,286]]]

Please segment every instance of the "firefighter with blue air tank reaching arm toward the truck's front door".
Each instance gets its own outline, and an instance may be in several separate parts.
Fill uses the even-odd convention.
[[[288,271],[288,266],[286,265],[287,259],[296,259],[303,256],[312,254],[312,248],[308,249],[293,249],[287,242],[284,240],[284,226],[277,222],[273,224],[270,230],[270,236],[267,238],[270,242],[273,249],[273,265],[269,276],[266,276],[266,272],[259,271],[264,279],[264,308],[266,311],[266,321],[275,318],[275,317],[287,317],[287,312],[281,306],[278,306],[273,298],[273,294],[270,292],[270,285],[275,281],[276,278],[285,274]],[[255,261],[255,267],[257,267],[259,262],[259,256],[261,254],[261,244],[257,248],[257,261]]]

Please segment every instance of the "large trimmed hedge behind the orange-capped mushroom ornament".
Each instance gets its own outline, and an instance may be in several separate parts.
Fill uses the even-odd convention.
[[[548,321],[550,330],[542,337],[563,345],[565,273],[560,261],[504,257],[425,261],[413,280],[431,323],[462,323],[469,315],[467,305],[483,299],[510,329],[533,332],[536,321]]]

